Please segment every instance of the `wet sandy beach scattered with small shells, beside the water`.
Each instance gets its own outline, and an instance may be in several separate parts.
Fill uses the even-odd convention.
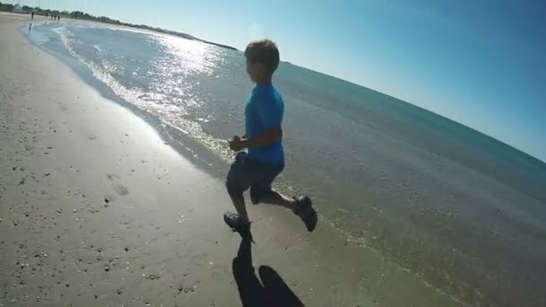
[[[347,241],[251,206],[0,14],[0,306],[457,306]],[[288,166],[289,167],[289,166]]]

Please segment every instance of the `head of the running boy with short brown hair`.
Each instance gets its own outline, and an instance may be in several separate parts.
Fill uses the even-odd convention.
[[[277,45],[269,39],[252,41],[244,50],[246,72],[252,82],[265,83],[271,80],[278,66]]]

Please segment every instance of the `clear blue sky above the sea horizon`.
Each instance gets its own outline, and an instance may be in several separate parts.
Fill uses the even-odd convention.
[[[546,161],[542,0],[11,2],[83,10],[240,49],[273,39],[282,60],[409,101]]]

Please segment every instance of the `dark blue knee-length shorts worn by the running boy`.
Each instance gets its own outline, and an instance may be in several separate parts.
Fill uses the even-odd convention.
[[[229,194],[242,194],[251,189],[251,201],[256,205],[260,198],[271,192],[271,183],[283,171],[285,164],[269,164],[249,158],[246,153],[237,153],[229,172],[225,187]]]

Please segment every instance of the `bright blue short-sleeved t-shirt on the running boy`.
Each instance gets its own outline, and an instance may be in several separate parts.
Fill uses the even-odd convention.
[[[246,137],[252,139],[263,135],[268,129],[280,129],[284,112],[283,98],[273,85],[256,86],[244,109]],[[247,155],[260,162],[271,164],[285,162],[285,153],[280,139],[272,145],[249,148]]]

